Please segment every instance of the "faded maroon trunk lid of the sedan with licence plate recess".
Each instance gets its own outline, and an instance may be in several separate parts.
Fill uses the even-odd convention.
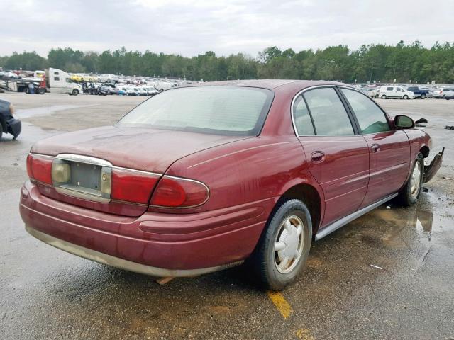
[[[52,185],[38,183],[43,195],[92,210],[138,216],[147,210],[160,176],[177,159],[244,138],[104,127],[50,137],[37,142],[31,154],[35,158],[46,155],[43,162],[52,162]],[[128,200],[131,192],[116,190],[118,183],[142,191],[140,200]]]

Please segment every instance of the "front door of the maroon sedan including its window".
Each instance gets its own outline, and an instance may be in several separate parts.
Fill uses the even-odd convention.
[[[387,115],[367,96],[353,89],[341,93],[369,147],[370,180],[361,207],[399,191],[409,174],[410,141],[402,130],[392,130]]]

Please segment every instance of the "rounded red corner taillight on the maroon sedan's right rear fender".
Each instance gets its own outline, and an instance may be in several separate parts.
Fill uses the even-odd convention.
[[[209,189],[204,183],[192,179],[164,176],[157,183],[150,205],[165,208],[190,208],[204,204],[208,198]]]

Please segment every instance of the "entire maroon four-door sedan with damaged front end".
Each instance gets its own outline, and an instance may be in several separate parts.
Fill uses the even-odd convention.
[[[311,242],[398,196],[414,204],[431,140],[328,81],[233,81],[164,91],[114,126],[37,142],[21,189],[27,231],[157,277],[248,259],[279,290]]]

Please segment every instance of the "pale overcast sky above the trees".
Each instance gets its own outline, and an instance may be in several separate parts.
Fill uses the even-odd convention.
[[[437,40],[454,41],[450,1],[0,0],[0,55],[125,46],[184,56],[212,50],[255,57],[274,45],[298,52],[416,39],[431,47]]]

